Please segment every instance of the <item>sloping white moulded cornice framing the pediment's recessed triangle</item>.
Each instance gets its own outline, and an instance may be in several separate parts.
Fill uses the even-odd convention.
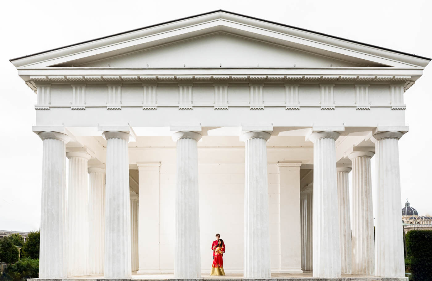
[[[229,32],[346,61],[370,61],[390,67],[424,67],[429,63],[427,58],[221,10],[20,57],[11,62],[19,68],[38,68],[94,61],[212,32]]]

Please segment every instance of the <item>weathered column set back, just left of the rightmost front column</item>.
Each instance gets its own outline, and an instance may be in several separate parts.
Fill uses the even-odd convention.
[[[353,274],[375,274],[375,237],[372,204],[371,151],[354,151],[352,161]]]

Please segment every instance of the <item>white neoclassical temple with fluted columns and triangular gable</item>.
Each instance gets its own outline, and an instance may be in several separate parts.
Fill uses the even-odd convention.
[[[405,280],[398,140],[429,61],[223,10],[12,59],[39,277],[201,278],[221,233],[227,275]]]

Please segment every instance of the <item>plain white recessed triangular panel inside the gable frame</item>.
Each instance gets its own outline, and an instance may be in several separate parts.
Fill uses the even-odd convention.
[[[172,42],[162,46],[64,67],[366,67],[371,61],[343,61],[225,32]]]

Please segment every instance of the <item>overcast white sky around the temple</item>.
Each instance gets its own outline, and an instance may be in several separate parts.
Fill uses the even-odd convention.
[[[431,2],[4,1],[0,16],[0,229],[30,231],[40,226],[42,141],[31,128],[36,95],[16,75],[9,59],[219,8],[432,57]],[[431,79],[429,65],[405,94],[410,132],[399,142],[402,204],[408,197],[420,215],[432,214],[432,91],[427,86]]]

